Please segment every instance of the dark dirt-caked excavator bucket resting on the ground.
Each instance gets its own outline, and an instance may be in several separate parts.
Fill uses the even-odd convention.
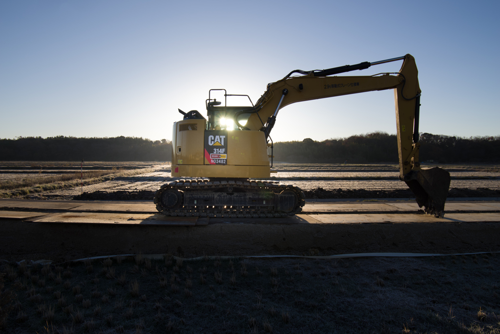
[[[416,196],[419,207],[435,217],[444,217],[444,203],[448,195],[449,173],[439,167],[412,171],[404,175],[404,182]]]

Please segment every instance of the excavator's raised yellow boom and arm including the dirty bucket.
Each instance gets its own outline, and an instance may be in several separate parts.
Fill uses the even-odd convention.
[[[333,76],[354,70],[363,70],[372,65],[403,60],[398,73],[383,73],[374,76]],[[293,73],[303,74],[293,76]],[[238,122],[241,111],[234,115],[235,123],[246,130],[261,130],[268,138],[278,111],[292,103],[334,96],[356,94],[386,89],[394,90],[396,111],[397,149],[399,155],[399,179],[406,182],[425,212],[442,217],[449,189],[449,173],[441,168],[420,168],[418,122],[420,88],[415,59],[411,55],[375,63],[346,65],[322,71],[293,71],[285,78],[268,84],[266,92],[255,103],[244,126]]]

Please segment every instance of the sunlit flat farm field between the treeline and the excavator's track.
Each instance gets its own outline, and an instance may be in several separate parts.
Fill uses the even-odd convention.
[[[424,167],[434,167],[434,165]],[[500,190],[500,168],[498,166],[440,165],[439,167],[442,167],[450,172],[450,188],[487,188],[495,191]],[[26,178],[36,179],[47,177],[49,175],[54,176],[67,173],[79,174],[79,168],[79,162],[0,162],[0,186],[2,183],[12,180],[23,180]],[[125,171],[135,170],[137,173],[135,175],[117,176],[106,182],[84,185],[83,192],[93,193],[100,191],[104,193],[114,193],[145,191],[148,192],[149,197],[152,197],[152,193],[162,184],[178,179],[170,177],[169,162],[84,162],[83,164],[84,172],[105,172],[113,169]],[[145,172],[140,173],[140,169],[144,169]],[[398,180],[397,165],[276,163],[274,164],[273,169],[276,170],[277,173],[271,174],[270,179],[280,181],[285,184],[293,184],[303,190],[311,190],[318,187],[325,190],[407,190],[406,184]],[[82,190],[79,186],[73,186],[63,189],[43,191],[36,194],[19,194],[13,197],[32,199],[73,199],[73,197],[79,195],[81,191]],[[137,199],[145,198],[139,197]]]

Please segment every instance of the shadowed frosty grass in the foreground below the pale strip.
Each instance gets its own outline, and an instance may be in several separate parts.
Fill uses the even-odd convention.
[[[500,333],[499,264],[494,253],[336,260],[167,256],[4,263],[1,272],[17,295],[8,333]]]

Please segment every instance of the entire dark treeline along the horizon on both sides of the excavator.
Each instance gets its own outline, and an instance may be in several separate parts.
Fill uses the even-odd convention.
[[[420,135],[420,161],[500,163],[500,136]],[[322,142],[277,142],[274,161],[291,163],[397,163],[397,138],[373,132]],[[170,161],[171,143],[136,137],[18,137],[0,139],[1,161]]]

